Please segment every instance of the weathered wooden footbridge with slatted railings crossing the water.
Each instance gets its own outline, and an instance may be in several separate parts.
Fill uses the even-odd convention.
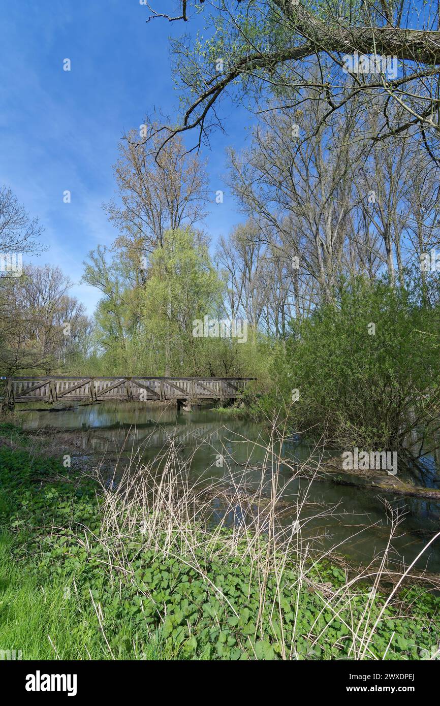
[[[191,410],[203,400],[230,400],[238,397],[252,378],[92,378],[23,377],[8,378],[5,405],[18,402],[166,402]]]

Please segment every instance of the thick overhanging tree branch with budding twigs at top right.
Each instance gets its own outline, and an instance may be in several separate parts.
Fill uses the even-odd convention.
[[[153,16],[166,16],[163,8]],[[207,37],[173,40],[174,73],[184,116],[172,133],[198,129],[208,137],[225,95],[255,100],[270,90],[299,105],[304,88],[321,91],[322,121],[359,92],[383,108],[377,141],[417,126],[436,160],[440,136],[439,5],[410,0],[182,0],[175,20],[189,21],[203,7]],[[208,9],[209,7],[209,9]],[[169,17],[170,18],[170,17]],[[171,19],[171,18],[170,18]],[[357,59],[374,54],[374,61]],[[376,56],[386,57],[385,61]],[[388,59],[388,63],[387,63]],[[311,68],[318,68],[318,73]],[[238,92],[237,92],[238,91]],[[388,109],[403,107],[390,118]],[[319,124],[315,130],[319,129]],[[313,131],[311,131],[313,132]]]

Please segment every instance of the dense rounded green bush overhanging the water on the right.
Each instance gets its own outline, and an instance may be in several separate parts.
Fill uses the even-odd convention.
[[[405,289],[362,278],[342,287],[273,363],[295,431],[376,450],[399,450],[415,426],[429,433],[439,409],[438,331],[439,311]],[[263,404],[279,402],[273,393]]]

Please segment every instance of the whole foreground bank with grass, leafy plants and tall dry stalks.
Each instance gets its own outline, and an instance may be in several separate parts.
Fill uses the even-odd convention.
[[[210,523],[212,492],[189,485],[172,450],[121,474],[115,493],[15,427],[0,433],[0,649],[23,659],[436,654],[440,599],[426,587],[396,577],[386,587],[385,563],[350,575],[319,561],[298,528],[278,534],[270,502],[252,527]]]

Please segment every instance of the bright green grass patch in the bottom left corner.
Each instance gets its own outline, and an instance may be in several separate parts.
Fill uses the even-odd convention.
[[[141,638],[128,616],[106,613],[104,638],[93,602],[78,594],[73,574],[44,581],[36,562],[13,561],[18,544],[0,534],[0,650],[20,650],[21,659],[172,659],[164,640]],[[81,581],[81,567],[76,577]]]

